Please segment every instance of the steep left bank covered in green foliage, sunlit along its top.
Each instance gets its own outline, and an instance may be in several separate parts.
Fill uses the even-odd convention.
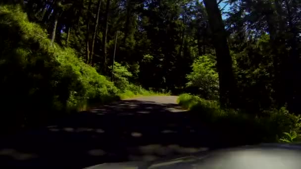
[[[54,112],[116,99],[118,89],[56,44],[19,7],[0,6],[1,121],[34,123]],[[16,97],[18,96],[18,97]],[[16,106],[17,105],[17,106]]]

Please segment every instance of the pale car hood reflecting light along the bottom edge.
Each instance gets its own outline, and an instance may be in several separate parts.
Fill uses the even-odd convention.
[[[301,144],[261,144],[153,162],[105,163],[86,169],[300,169]]]

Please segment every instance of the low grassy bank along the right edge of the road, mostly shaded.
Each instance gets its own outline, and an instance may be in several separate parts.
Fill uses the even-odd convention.
[[[285,107],[266,110],[255,116],[242,110],[221,109],[217,101],[190,94],[181,94],[178,102],[190,110],[196,121],[225,133],[232,144],[300,141],[301,116],[289,113]]]

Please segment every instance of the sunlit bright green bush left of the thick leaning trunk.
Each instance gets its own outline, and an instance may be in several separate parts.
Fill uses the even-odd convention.
[[[218,74],[216,72],[216,61],[212,55],[203,55],[197,58],[193,65],[193,72],[187,75],[187,87],[196,88],[196,94],[206,99],[218,98]]]

